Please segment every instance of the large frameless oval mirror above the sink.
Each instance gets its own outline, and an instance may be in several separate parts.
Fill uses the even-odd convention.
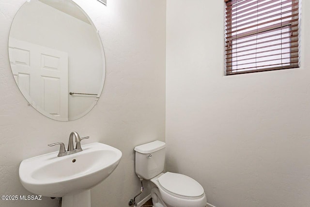
[[[97,103],[105,79],[98,31],[72,0],[28,0],[14,17],[9,58],[16,84],[45,116],[71,121]]]

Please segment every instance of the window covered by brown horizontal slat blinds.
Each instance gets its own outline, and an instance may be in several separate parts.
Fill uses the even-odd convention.
[[[226,75],[298,67],[298,0],[225,0]]]

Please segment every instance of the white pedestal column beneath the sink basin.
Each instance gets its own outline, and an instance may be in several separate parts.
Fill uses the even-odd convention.
[[[62,207],[91,207],[91,190],[79,191],[63,196]]]

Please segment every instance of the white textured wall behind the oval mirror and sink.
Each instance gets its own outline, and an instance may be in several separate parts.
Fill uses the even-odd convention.
[[[21,160],[55,151],[48,143],[68,142],[69,133],[107,143],[123,158],[92,190],[93,207],[126,207],[140,191],[134,171],[136,145],[165,139],[165,0],[75,0],[100,31],[106,54],[106,82],[98,104],[76,121],[51,120],[19,92],[8,57],[10,25],[24,0],[0,0],[0,194],[28,195],[20,184]],[[83,141],[84,142],[84,141]],[[145,183],[147,187],[147,184]],[[142,198],[150,190],[146,188]],[[139,198],[140,199],[140,198]],[[1,207],[57,207],[57,201],[1,201]]]

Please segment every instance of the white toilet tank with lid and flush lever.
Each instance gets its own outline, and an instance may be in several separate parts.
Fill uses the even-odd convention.
[[[135,147],[136,174],[143,179],[151,179],[164,171],[166,143],[154,141]]]

